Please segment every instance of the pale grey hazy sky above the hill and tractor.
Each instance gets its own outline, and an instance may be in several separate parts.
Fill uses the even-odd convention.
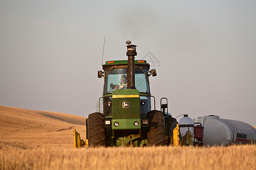
[[[256,125],[256,1],[0,0],[0,105],[96,112],[103,61],[137,45],[173,117]],[[181,118],[181,117],[179,117]],[[178,118],[178,120],[179,120]]]

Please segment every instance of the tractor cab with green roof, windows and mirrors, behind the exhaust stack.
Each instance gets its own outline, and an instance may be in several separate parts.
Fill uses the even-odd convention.
[[[139,95],[139,107],[141,115],[146,115],[151,110],[151,94],[148,77],[150,75],[156,76],[155,69],[150,69],[150,65],[145,60],[134,61],[134,72],[135,72],[135,88],[131,91],[138,91]],[[128,61],[106,61],[105,65],[102,66],[103,71],[98,71],[98,77],[104,77],[104,91],[103,91],[103,104],[104,114],[106,116],[112,116],[112,99],[113,92],[118,90],[119,94],[126,94],[129,84],[129,67]],[[152,74],[153,73],[153,74]]]

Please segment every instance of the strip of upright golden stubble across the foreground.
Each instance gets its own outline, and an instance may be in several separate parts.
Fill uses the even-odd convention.
[[[255,145],[0,150],[1,169],[255,169]]]

